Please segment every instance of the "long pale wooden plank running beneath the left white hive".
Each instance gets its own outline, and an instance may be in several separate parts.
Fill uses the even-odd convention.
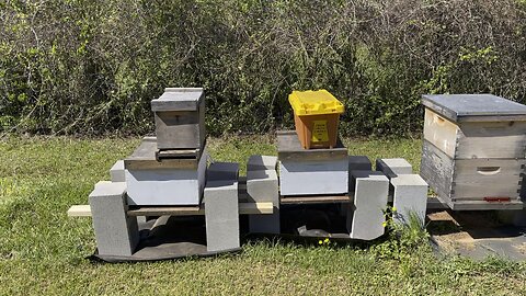
[[[272,203],[239,203],[240,215],[273,214]],[[205,205],[198,206],[142,206],[128,209],[128,216],[192,216],[205,215]],[[91,217],[90,205],[73,205],[68,209],[69,217]]]

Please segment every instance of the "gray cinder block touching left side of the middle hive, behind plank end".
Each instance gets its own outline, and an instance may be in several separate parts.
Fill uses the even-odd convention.
[[[247,193],[251,203],[273,203],[272,215],[249,215],[251,232],[279,234],[279,192],[275,170],[247,171]]]

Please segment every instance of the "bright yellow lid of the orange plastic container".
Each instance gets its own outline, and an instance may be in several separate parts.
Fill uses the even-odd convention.
[[[288,95],[288,102],[298,116],[341,114],[344,112],[343,104],[327,90],[293,91]]]

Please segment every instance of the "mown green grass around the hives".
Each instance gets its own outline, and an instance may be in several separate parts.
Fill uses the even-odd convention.
[[[251,241],[237,255],[100,264],[91,220],[68,218],[138,139],[11,138],[0,141],[0,294],[451,294],[524,295],[526,264],[437,258],[431,249]],[[420,140],[347,140],[353,155],[420,162]],[[217,160],[275,155],[272,137],[211,139]],[[242,166],[244,167],[244,166]],[[381,258],[381,259],[380,259]]]

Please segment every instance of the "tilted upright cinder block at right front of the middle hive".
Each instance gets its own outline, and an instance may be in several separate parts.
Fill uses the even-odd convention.
[[[347,230],[353,239],[371,240],[384,235],[389,180],[381,172],[352,171],[355,182],[353,204],[348,207]]]

